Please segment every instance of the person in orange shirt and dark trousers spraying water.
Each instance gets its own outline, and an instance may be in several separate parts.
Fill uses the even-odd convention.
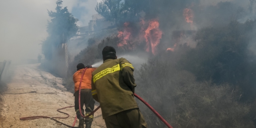
[[[84,123],[86,124],[85,128],[91,128],[93,115],[89,116],[88,118],[84,118],[80,115],[79,105],[81,106],[82,114],[84,115],[84,104],[85,104],[85,116],[89,115],[94,110],[94,99],[92,98],[92,72],[96,68],[92,68],[91,66],[87,66],[87,69],[84,64],[80,63],[76,66],[77,72],[73,75],[73,80],[75,83],[75,110],[77,118],[79,119],[79,126],[78,128],[84,128]],[[84,76],[82,78],[81,83],[81,96],[80,96],[80,103],[79,104],[79,84],[82,77],[82,73],[84,72]]]

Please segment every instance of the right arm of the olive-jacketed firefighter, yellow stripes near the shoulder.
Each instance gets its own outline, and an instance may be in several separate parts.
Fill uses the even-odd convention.
[[[134,93],[134,89],[137,86],[135,84],[135,79],[133,76],[134,67],[128,60],[122,58],[120,61],[120,70],[122,71],[122,76],[124,77],[124,82]]]

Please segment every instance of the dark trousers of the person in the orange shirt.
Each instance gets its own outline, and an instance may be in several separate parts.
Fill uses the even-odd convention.
[[[79,114],[79,90],[74,93],[75,96],[75,110],[76,114],[78,116]],[[81,111],[84,115],[84,105],[85,105],[85,116],[89,115],[94,110],[94,99],[92,98],[92,90],[91,89],[81,89],[81,96],[80,96],[80,105],[81,105]],[[93,114],[89,116],[88,118],[85,118],[86,121],[92,121],[93,120]]]

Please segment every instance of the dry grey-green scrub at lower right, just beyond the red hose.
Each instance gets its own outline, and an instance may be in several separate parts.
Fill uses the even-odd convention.
[[[240,102],[239,87],[196,77],[177,70],[174,63],[159,58],[143,64],[136,75],[135,92],[153,106],[174,128],[255,128],[255,107]],[[138,102],[150,128],[165,125]]]

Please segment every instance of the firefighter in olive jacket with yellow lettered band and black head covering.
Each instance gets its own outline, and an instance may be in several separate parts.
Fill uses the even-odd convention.
[[[103,64],[92,72],[92,96],[100,102],[107,128],[147,128],[134,99],[134,67],[125,58],[117,59],[111,46],[102,55]]]

